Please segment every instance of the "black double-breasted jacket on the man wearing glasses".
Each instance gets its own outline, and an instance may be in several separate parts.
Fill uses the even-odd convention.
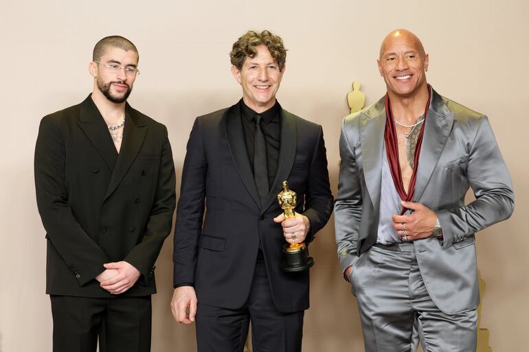
[[[35,185],[47,232],[48,294],[113,296],[94,278],[103,263],[122,260],[142,273],[122,296],[156,292],[154,263],[176,203],[164,125],[127,104],[118,155],[89,95],[42,119]]]

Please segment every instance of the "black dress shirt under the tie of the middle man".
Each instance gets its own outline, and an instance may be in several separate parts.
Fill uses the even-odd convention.
[[[243,130],[245,134],[246,150],[251,165],[252,172],[254,171],[254,133],[256,128],[255,115],[262,117],[262,133],[264,134],[264,142],[267,145],[267,164],[268,164],[268,185],[272,186],[275,179],[275,173],[278,171],[279,148],[281,139],[281,119],[279,104],[276,101],[274,106],[264,111],[263,113],[256,113],[249,108],[243,99],[240,99],[240,113],[243,115]]]

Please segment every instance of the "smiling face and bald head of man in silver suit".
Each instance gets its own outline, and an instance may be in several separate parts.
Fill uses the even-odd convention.
[[[428,55],[413,33],[390,33],[381,45],[377,62],[390,97],[413,97],[427,89]]]

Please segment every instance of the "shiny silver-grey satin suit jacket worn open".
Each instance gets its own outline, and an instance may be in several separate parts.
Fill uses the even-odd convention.
[[[376,242],[385,119],[382,98],[341,126],[335,231],[342,272]],[[414,248],[432,300],[457,314],[480,301],[474,234],[509,218],[513,187],[485,115],[432,90],[425,124],[414,202],[436,212],[444,239],[420,239]],[[475,200],[464,204],[469,187]]]

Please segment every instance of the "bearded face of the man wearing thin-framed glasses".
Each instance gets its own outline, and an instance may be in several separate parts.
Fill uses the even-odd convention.
[[[131,94],[135,76],[129,77],[124,69],[119,69],[117,73],[111,73],[106,66],[116,65],[119,67],[136,68],[138,56],[135,51],[125,51],[118,47],[108,47],[105,53],[97,62],[91,62],[91,73],[96,78],[98,90],[115,104],[125,102]]]

